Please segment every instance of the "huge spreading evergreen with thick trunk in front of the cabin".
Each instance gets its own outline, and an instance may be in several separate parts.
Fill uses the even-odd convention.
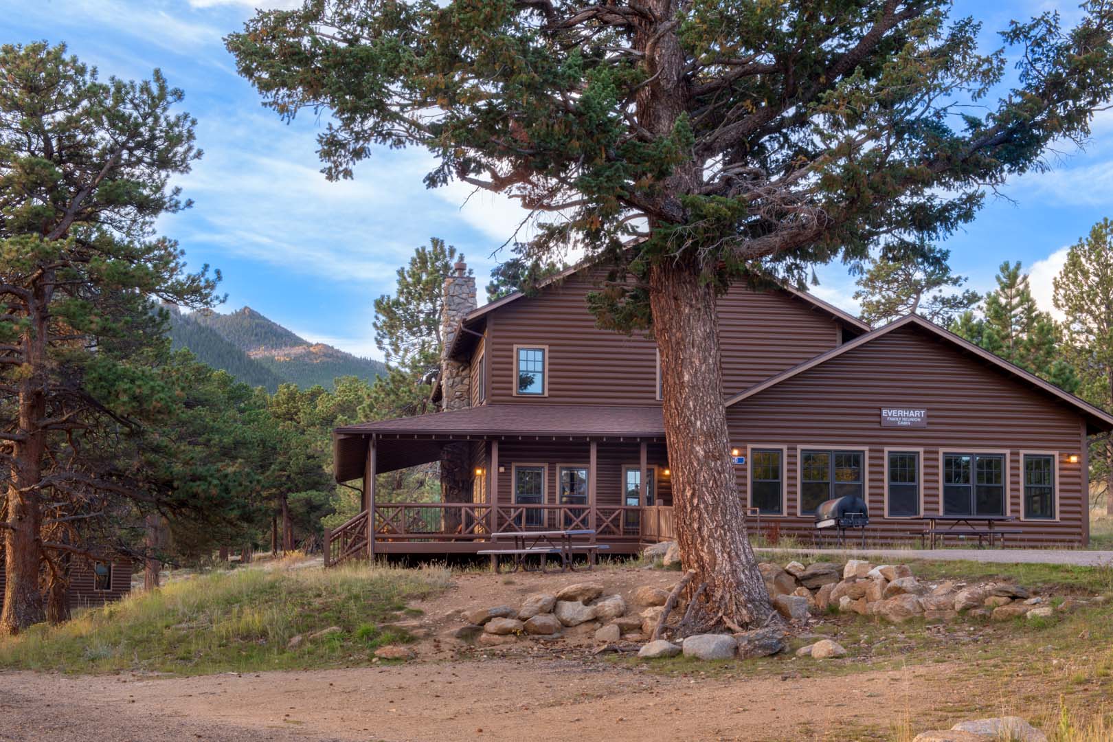
[[[945,0],[307,0],[228,37],[240,73],[290,118],[331,107],[319,154],[352,177],[375,145],[426,147],[452,179],[555,214],[534,260],[571,246],[613,266],[603,326],[651,321],[692,626],[772,616],[746,537],[722,408],[718,296],[760,270],[894,259],[974,218],[983,189],[1084,139],[1113,93],[1113,7],[1003,34]],[[431,113],[431,111],[435,111]],[[529,218],[529,217],[528,217]],[[618,290],[622,281],[626,290]],[[703,585],[700,588],[700,585]]]

